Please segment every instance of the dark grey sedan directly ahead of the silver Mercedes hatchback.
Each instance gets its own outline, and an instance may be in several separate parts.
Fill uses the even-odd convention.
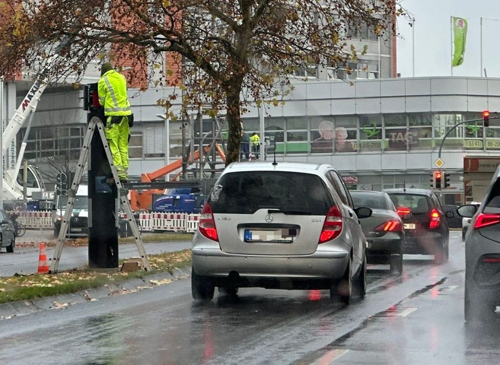
[[[361,219],[361,228],[368,241],[368,263],[388,263],[390,271],[401,274],[403,270],[402,245],[403,221],[389,195],[380,191],[350,190],[354,207],[366,206],[371,216]]]

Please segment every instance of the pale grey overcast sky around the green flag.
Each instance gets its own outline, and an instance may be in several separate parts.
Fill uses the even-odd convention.
[[[480,18],[500,19],[499,0],[402,0],[401,4],[415,17],[415,77],[451,75],[451,15],[468,21],[464,61],[453,67],[453,75],[481,75]],[[402,17],[398,31],[397,72],[411,77],[412,28]],[[488,77],[500,77],[500,21],[483,19],[482,36],[482,67]]]

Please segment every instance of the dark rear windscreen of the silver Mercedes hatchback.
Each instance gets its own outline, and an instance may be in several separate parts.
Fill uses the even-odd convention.
[[[324,182],[314,174],[241,171],[221,176],[208,203],[214,213],[253,214],[267,208],[290,214],[326,215],[333,200]]]

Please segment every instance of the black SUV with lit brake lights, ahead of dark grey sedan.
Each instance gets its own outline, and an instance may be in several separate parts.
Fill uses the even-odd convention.
[[[428,189],[384,189],[404,222],[403,253],[432,254],[436,263],[448,260],[449,230],[437,196]]]

